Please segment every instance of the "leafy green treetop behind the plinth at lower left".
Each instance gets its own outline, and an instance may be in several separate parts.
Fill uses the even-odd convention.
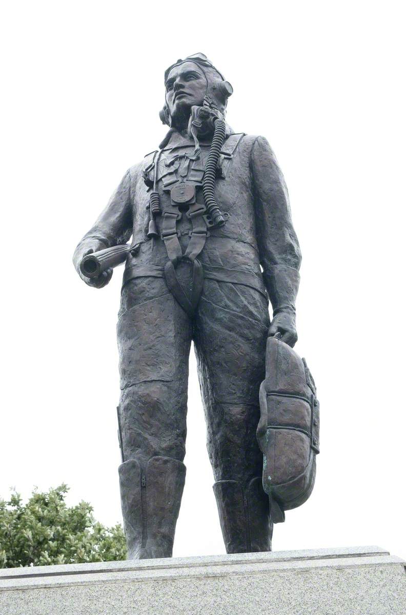
[[[15,491],[0,499],[0,568],[125,560],[121,525],[95,521],[87,502],[66,506],[66,485],[34,490],[26,504]]]

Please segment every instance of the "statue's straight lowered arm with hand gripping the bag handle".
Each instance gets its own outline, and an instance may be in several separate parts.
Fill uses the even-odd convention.
[[[281,333],[282,339],[293,346],[297,341],[295,301],[301,253],[285,180],[264,137],[257,137],[253,143],[251,164],[260,263],[273,307],[269,335]]]

